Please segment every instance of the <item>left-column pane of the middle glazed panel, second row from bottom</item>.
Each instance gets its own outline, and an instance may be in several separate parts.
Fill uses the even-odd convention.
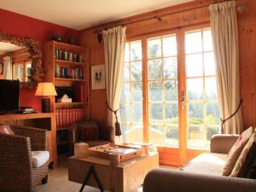
[[[163,107],[160,103],[152,103],[149,105],[150,123],[161,123],[163,120]]]

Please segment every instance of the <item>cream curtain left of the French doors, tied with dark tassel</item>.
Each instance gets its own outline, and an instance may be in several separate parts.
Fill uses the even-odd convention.
[[[119,109],[120,94],[123,83],[125,57],[125,26],[117,26],[103,31],[104,54],[106,64],[106,89],[108,107],[113,111]],[[119,111],[117,111],[119,117]],[[115,127],[115,114],[108,109],[108,125]],[[116,136],[115,143],[122,143],[122,137]]]

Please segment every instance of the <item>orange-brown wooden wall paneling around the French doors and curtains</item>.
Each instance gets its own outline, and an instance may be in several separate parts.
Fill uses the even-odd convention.
[[[163,30],[171,30],[181,26],[193,26],[198,24],[208,23],[210,21],[209,4],[216,3],[214,0],[196,0],[191,3],[185,3],[171,8],[159,9],[148,12],[143,15],[132,16],[123,20],[117,20],[101,26],[91,27],[81,32],[81,44],[90,48],[90,66],[104,63],[103,42],[98,43],[96,31],[102,30],[109,26],[125,25],[125,23],[135,20],[143,20],[155,15],[165,15],[166,13],[178,12],[173,15],[166,15],[161,20],[144,20],[142,22],[126,25],[126,37],[143,38],[145,33],[161,32]],[[245,127],[250,125],[256,126],[256,66],[254,57],[254,49],[256,46],[256,3],[254,0],[237,0],[237,3],[245,3],[246,9],[242,14],[238,14],[238,30],[239,30],[239,49],[240,49],[240,87],[241,98],[244,102],[242,105],[242,115]],[[198,9],[193,9],[197,7]],[[191,10],[189,10],[191,9]],[[185,11],[187,10],[187,11]],[[179,48],[178,48],[179,49]],[[179,61],[183,62],[183,61]],[[181,82],[180,82],[181,83]],[[184,85],[182,85],[184,86]],[[105,90],[90,90],[90,110],[91,119],[107,121],[107,108],[105,107],[106,91]],[[181,108],[181,106],[179,106]],[[185,115],[185,114],[183,114]],[[179,122],[183,125],[184,122]],[[186,130],[183,128],[183,130]],[[186,138],[184,131],[179,137],[180,141]],[[180,143],[181,146],[186,146],[185,142]],[[181,156],[181,162],[186,161],[194,154],[188,150],[185,156]],[[184,152],[184,151],[183,151]],[[200,153],[201,151],[199,151]]]

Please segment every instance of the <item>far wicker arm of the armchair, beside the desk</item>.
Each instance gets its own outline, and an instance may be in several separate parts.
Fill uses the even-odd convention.
[[[15,135],[30,137],[32,151],[47,150],[47,131],[28,126],[12,125]]]

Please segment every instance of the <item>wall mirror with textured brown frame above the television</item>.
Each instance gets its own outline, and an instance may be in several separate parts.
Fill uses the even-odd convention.
[[[41,44],[0,31],[0,79],[19,79],[20,87],[34,88],[43,77]]]

